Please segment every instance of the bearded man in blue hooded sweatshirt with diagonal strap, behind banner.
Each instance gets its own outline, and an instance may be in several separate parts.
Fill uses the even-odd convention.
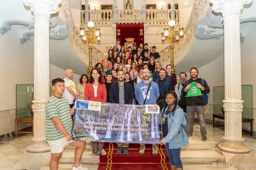
[[[148,90],[148,95],[146,98],[145,104],[156,104],[156,100],[159,98],[159,88],[158,85],[153,82],[153,79],[150,79],[150,71],[145,68],[142,71],[142,77],[143,80],[139,82],[135,87],[135,98],[138,101],[140,105],[144,104],[144,100],[146,98],[148,86],[150,85],[150,89]],[[146,144],[140,144],[140,155],[145,154],[145,145]],[[152,155],[157,155],[157,144],[152,144]]]

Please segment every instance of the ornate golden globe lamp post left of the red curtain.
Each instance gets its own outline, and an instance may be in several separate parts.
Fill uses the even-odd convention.
[[[86,42],[89,43],[88,48],[89,48],[89,66],[87,67],[87,73],[90,74],[92,70],[92,44],[94,42],[100,43],[100,28],[95,28],[94,31],[94,23],[93,21],[88,22],[88,30],[85,30],[85,26],[80,27],[80,38],[82,39],[83,43],[85,44]]]

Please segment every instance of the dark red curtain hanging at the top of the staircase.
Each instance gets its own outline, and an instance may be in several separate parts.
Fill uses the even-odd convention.
[[[134,38],[137,47],[144,45],[144,23],[116,23],[116,39],[124,45],[126,38]]]

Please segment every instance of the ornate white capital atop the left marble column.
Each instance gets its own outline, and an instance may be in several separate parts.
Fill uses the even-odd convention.
[[[24,5],[30,6],[34,15],[42,15],[50,18],[51,14],[59,11],[61,0],[23,0]]]

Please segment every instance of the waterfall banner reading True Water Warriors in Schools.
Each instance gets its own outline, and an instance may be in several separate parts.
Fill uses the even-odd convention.
[[[158,143],[158,105],[77,100],[72,138],[79,141]]]

